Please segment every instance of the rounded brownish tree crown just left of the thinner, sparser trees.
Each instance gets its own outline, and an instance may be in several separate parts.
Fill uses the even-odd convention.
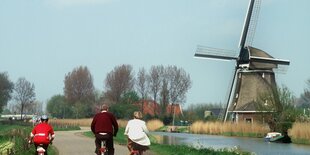
[[[113,102],[119,102],[121,95],[131,91],[134,76],[131,65],[116,66],[105,79],[106,96]]]

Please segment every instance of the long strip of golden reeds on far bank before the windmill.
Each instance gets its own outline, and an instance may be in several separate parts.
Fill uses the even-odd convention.
[[[227,136],[263,137],[269,128],[257,123],[222,123],[197,121],[190,126],[190,132]]]

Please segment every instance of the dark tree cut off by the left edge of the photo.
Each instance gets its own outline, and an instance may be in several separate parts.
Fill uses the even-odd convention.
[[[14,83],[9,80],[7,73],[0,73],[0,113],[2,108],[11,99]]]

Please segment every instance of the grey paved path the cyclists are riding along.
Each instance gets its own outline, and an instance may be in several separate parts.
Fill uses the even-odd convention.
[[[76,131],[56,131],[53,145],[57,148],[59,155],[95,155],[95,139],[83,136],[81,133],[90,131],[90,128],[82,127]],[[121,133],[118,133],[121,134]],[[114,144],[115,155],[128,155],[126,146]],[[150,155],[146,152],[144,155]]]

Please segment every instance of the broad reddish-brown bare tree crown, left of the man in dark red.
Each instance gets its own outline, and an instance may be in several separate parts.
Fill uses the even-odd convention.
[[[69,72],[64,84],[64,94],[70,103],[94,101],[95,87],[87,67],[80,66]]]

